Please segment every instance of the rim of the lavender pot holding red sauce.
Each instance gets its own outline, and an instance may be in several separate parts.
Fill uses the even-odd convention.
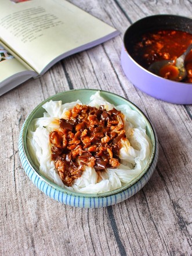
[[[135,65],[137,65],[140,69],[142,69],[144,72],[147,72],[148,74],[150,74],[151,76],[157,77],[158,79],[162,80],[162,81],[169,81],[169,83],[177,83],[177,84],[182,84],[183,85],[187,85],[187,86],[192,86],[192,83],[182,83],[181,81],[173,81],[173,80],[168,80],[165,79],[164,77],[158,76],[157,74],[154,74],[150,71],[148,71],[147,69],[145,69],[143,66],[139,65],[139,63],[137,63],[135,61],[135,59],[133,59],[133,57],[131,56],[131,54],[129,54],[129,51],[126,47],[127,41],[126,41],[126,34],[129,33],[129,30],[132,29],[133,26],[136,26],[139,23],[142,23],[143,20],[147,20],[147,19],[153,19],[153,17],[177,17],[177,18],[181,18],[181,19],[186,19],[192,22],[192,19],[190,17],[186,17],[186,16],[180,16],[180,15],[169,15],[169,14],[160,14],[160,15],[150,15],[150,16],[146,16],[143,17],[142,19],[136,20],[136,22],[132,23],[131,26],[128,27],[128,29],[125,30],[124,33],[124,37],[123,37],[123,46],[124,46],[124,50],[126,52],[126,54],[128,54],[129,58],[131,58],[131,60],[135,63]]]

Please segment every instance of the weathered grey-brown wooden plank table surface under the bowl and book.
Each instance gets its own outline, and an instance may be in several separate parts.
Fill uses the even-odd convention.
[[[121,34],[57,63],[0,98],[0,255],[192,255],[192,106],[142,93],[120,65],[122,38],[154,14],[191,17],[191,0],[71,0]],[[107,208],[81,209],[47,197],[21,166],[18,139],[28,113],[61,91],[96,88],[139,106],[160,142],[157,168],[133,197]]]

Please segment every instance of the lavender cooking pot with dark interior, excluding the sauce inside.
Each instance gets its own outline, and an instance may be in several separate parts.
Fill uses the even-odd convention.
[[[154,98],[174,104],[192,104],[192,84],[157,76],[140,66],[129,53],[133,38],[157,29],[180,30],[192,34],[192,20],[176,15],[148,16],[133,23],[125,32],[121,65],[134,86]]]

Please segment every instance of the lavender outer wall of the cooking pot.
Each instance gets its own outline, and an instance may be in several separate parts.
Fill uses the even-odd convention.
[[[122,46],[121,65],[126,77],[144,93],[174,104],[192,104],[192,84],[164,79],[148,72]]]

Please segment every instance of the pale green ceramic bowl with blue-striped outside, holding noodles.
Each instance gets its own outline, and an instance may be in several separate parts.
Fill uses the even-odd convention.
[[[100,95],[105,98],[107,101],[111,102],[114,105],[128,104],[132,109],[139,112],[146,121],[146,131],[148,137],[151,139],[152,149],[150,159],[148,160],[147,165],[142,170],[140,175],[138,175],[132,182],[122,186],[121,188],[107,193],[100,194],[82,194],[71,192],[68,189],[63,189],[57,184],[53,183],[51,180],[47,179],[44,175],[39,172],[39,166],[35,163],[30,151],[27,147],[27,132],[28,127],[30,126],[31,121],[34,118],[39,118],[43,116],[45,110],[42,108],[42,105],[45,102],[53,100],[61,100],[62,103],[76,101],[79,99],[83,104],[89,102],[90,95],[95,94],[96,90],[71,90],[64,93],[56,94],[41,104],[39,104],[31,113],[28,115],[28,118],[23,124],[23,127],[20,131],[19,137],[19,155],[21,164],[27,176],[30,178],[32,183],[38,187],[39,190],[43,191],[46,195],[61,202],[62,204],[72,205],[74,207],[82,208],[97,208],[97,207],[107,207],[108,205],[113,205],[127,198],[131,197],[133,194],[137,193],[142,187],[148,182],[151,175],[154,172],[155,166],[157,165],[158,159],[158,140],[157,135],[151,125],[150,121],[146,118],[144,113],[137,108],[132,102],[122,98],[116,94],[108,93],[106,91],[100,91]]]

